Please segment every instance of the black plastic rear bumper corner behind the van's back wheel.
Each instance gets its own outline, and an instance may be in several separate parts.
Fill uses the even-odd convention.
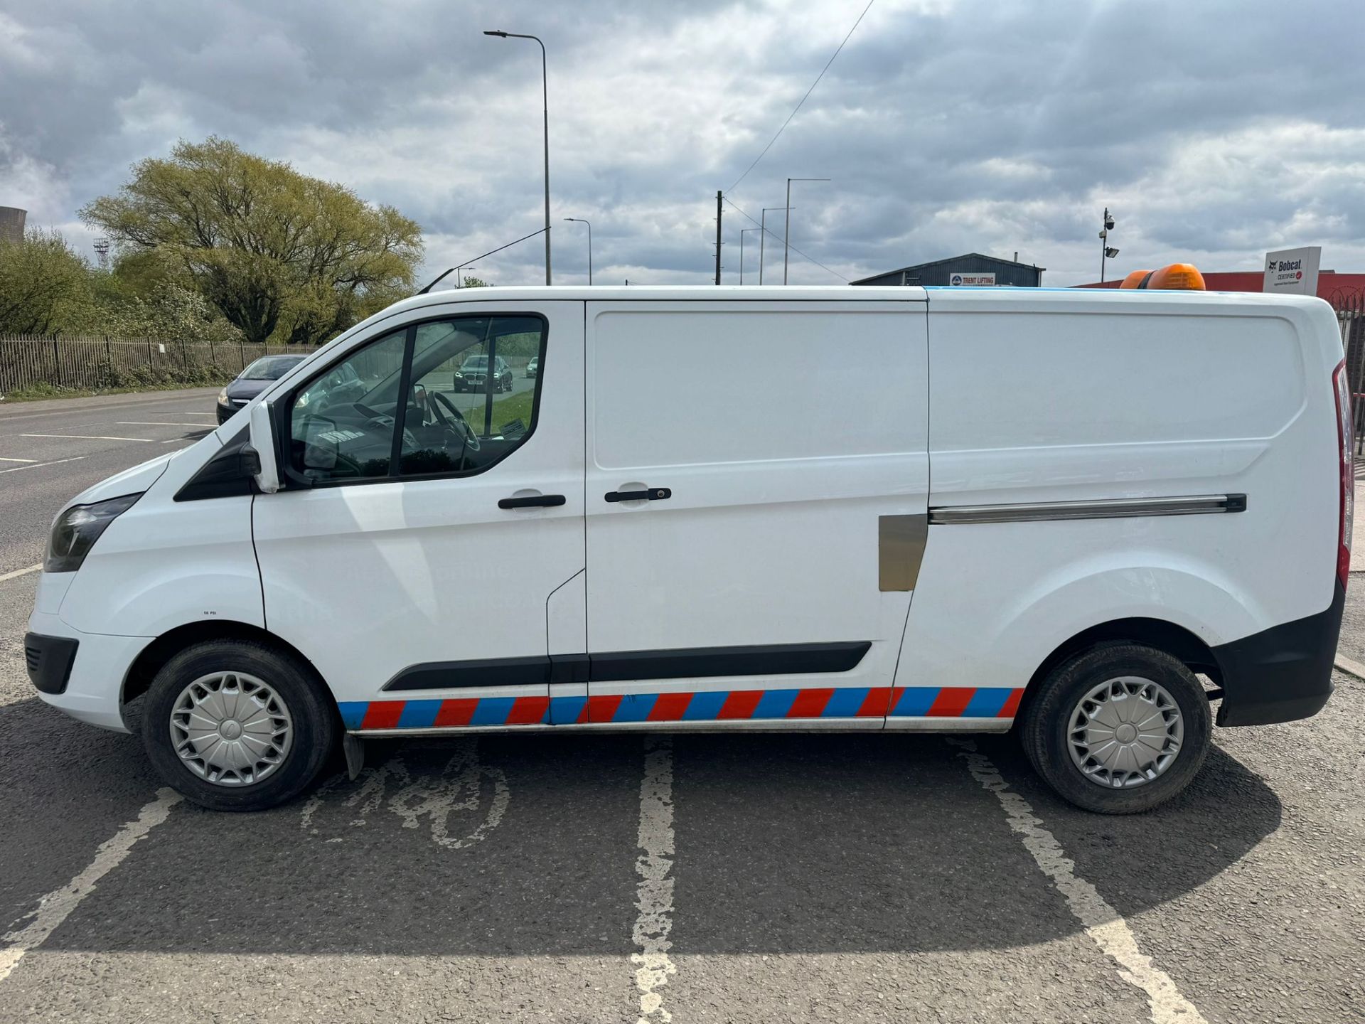
[[[1332,695],[1332,662],[1346,588],[1325,612],[1275,625],[1213,649],[1223,677],[1219,725],[1268,725],[1308,718]]]

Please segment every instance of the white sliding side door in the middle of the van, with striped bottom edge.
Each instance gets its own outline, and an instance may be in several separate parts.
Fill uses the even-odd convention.
[[[852,299],[588,303],[590,721],[882,728],[928,493],[925,314]]]

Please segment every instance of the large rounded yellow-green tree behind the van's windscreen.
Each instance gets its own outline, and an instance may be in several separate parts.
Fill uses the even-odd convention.
[[[412,291],[422,231],[392,206],[220,138],[143,160],[81,210],[172,262],[247,341],[317,343]]]

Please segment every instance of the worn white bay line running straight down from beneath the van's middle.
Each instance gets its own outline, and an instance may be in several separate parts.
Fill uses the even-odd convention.
[[[677,967],[669,958],[673,943],[673,740],[650,736],[644,741],[644,778],[640,782],[639,848],[635,860],[640,881],[635,887],[635,907],[639,915],[631,938],[642,952],[631,954],[636,965],[635,987],[640,993],[637,1024],[670,1021],[673,1014],[663,1009],[663,994],[669,975]]]

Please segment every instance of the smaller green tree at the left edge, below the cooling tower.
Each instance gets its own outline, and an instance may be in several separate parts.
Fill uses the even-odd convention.
[[[0,242],[0,333],[79,329],[93,303],[90,265],[61,232],[30,228],[22,242]]]

